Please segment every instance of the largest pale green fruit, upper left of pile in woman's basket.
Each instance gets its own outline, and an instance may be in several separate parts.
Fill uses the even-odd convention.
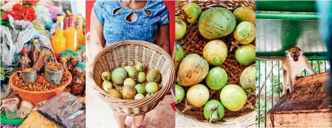
[[[128,77],[128,73],[125,69],[123,68],[117,68],[114,71],[112,71],[112,81],[116,85],[121,85],[123,84],[123,81]]]

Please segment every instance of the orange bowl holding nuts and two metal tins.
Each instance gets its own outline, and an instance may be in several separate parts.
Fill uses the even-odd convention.
[[[14,91],[17,91],[18,95],[20,95],[22,100],[27,100],[30,103],[33,103],[33,105],[40,103],[44,100],[48,100],[50,98],[53,98],[53,96],[64,92],[64,89],[71,83],[72,76],[68,70],[66,70],[66,74],[69,74],[69,79],[64,84],[59,85],[58,88],[48,90],[48,91],[25,91],[21,88],[18,88],[17,86],[13,85],[13,78],[17,76],[17,71],[11,75],[9,78],[9,85],[11,85],[11,88],[14,89]]]

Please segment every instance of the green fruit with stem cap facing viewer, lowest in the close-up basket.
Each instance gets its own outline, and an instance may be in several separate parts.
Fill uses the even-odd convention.
[[[225,108],[218,100],[209,100],[204,105],[204,117],[210,122],[222,120],[225,115]]]

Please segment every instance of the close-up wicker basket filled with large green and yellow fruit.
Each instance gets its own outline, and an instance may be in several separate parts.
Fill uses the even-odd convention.
[[[184,7],[194,4],[202,14],[188,22]],[[256,60],[254,6],[254,1],[176,1],[176,16],[188,26],[176,46],[178,116],[221,127],[224,118],[253,111],[255,70],[248,66]]]

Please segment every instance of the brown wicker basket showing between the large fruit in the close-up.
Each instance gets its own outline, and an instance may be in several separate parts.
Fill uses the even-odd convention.
[[[207,10],[208,8],[212,8],[212,7],[222,7],[222,8],[227,8],[229,11],[233,12],[236,8],[241,7],[241,6],[247,6],[252,8],[255,11],[255,1],[250,1],[250,0],[246,0],[246,1],[190,1],[193,2],[195,4],[198,4],[201,8],[202,11]],[[182,12],[181,12],[181,8],[187,4],[188,1],[176,1],[176,16],[181,16]],[[184,20],[185,21],[185,20]],[[185,33],[185,35],[183,36],[183,38],[181,40],[178,40],[178,43],[183,47],[183,50],[185,52],[185,55],[188,54],[199,54],[200,56],[202,56],[202,50],[204,48],[204,46],[207,44],[207,42],[209,42],[210,40],[205,39],[204,37],[202,37],[202,35],[200,35],[200,32],[198,30],[198,21],[195,23],[187,23],[187,31]],[[230,50],[231,46],[234,45],[234,42],[236,42],[236,40],[233,37],[233,33],[220,38],[220,40],[222,40],[223,42],[226,43],[228,50]],[[244,69],[246,69],[247,66],[241,65],[238,62],[236,62],[235,56],[234,56],[234,51],[235,51],[236,47],[234,47],[234,50],[232,50],[232,52],[229,52],[227,55],[227,59],[224,61],[224,63],[220,66],[223,69],[226,70],[227,75],[228,75],[228,81],[227,84],[237,84],[239,85],[239,78],[240,75],[242,73],[242,71]],[[204,81],[202,81],[202,84],[205,84]],[[188,87],[185,88],[185,91],[188,90]],[[220,91],[210,91],[210,99],[216,99],[216,100],[220,100],[219,99],[219,93]],[[246,103],[244,109],[238,111],[238,112],[231,112],[229,110],[226,110],[226,113],[224,115],[224,120],[226,120],[225,118],[228,117],[239,117],[241,115],[253,115],[253,108],[256,105],[256,95],[248,95],[248,103]],[[176,122],[176,124],[180,124],[183,126],[193,126],[193,127],[197,127],[197,126],[201,126],[201,127],[205,127],[205,126],[222,126],[222,125],[210,125],[207,124],[205,125],[205,123],[207,122],[207,120],[205,119],[204,115],[203,115],[203,107],[193,107],[190,110],[186,110],[185,113],[178,113],[178,112],[182,112],[184,110],[185,107],[185,103],[188,102],[185,100],[183,100],[183,102],[178,103],[176,105],[176,109],[177,109],[177,120],[179,119],[183,119],[185,117],[188,117],[188,120],[193,120],[193,122],[190,122],[190,124],[188,125],[189,122]],[[250,114],[248,114],[249,112],[251,112]],[[183,115],[185,115],[185,117],[182,117]],[[254,118],[254,117],[253,117]],[[253,120],[253,123],[255,120]],[[222,122],[215,122],[216,124],[222,124]],[[200,125],[203,124],[203,125]],[[178,126],[180,126],[178,125]],[[238,125],[239,126],[239,125]]]

